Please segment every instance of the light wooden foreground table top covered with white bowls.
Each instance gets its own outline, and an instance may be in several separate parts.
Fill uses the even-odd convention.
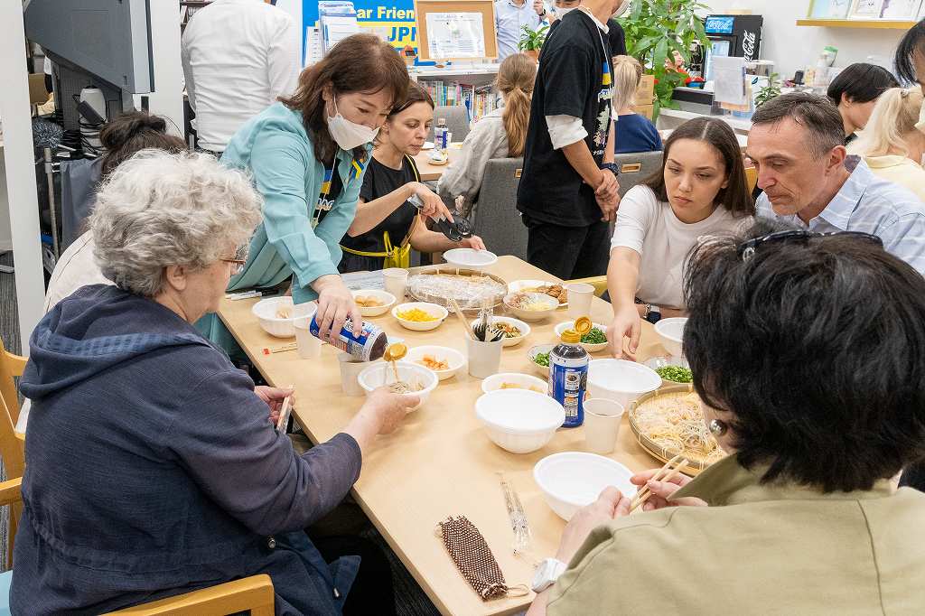
[[[555,279],[512,256],[500,257],[489,271],[508,282]],[[337,351],[325,345],[320,360],[302,360],[296,351],[262,354],[261,349],[277,346],[281,340],[257,324],[251,314],[254,302],[225,300],[218,314],[269,383],[277,387],[295,384],[299,400],[293,413],[308,437],[315,443],[333,437],[364,402],[364,398],[342,393]],[[553,341],[552,329],[567,320],[565,312],[561,309],[547,321],[532,324],[527,339],[503,351],[501,370],[530,373],[526,351],[534,344]],[[592,317],[598,323],[610,323],[610,304],[595,298]],[[409,346],[439,344],[465,353],[462,326],[453,316],[431,332],[406,330],[388,313],[370,320],[389,334],[401,336]],[[643,322],[643,327],[640,357],[662,353],[652,326]],[[475,400],[481,393],[481,380],[464,372],[440,383],[396,432],[378,437],[374,447],[364,451],[363,474],[353,488],[354,498],[444,614],[508,614],[524,610],[533,594],[483,602],[434,535],[438,522],[450,515],[468,517],[486,537],[507,583],[529,586],[534,563],[513,556],[511,524],[496,472],[507,474],[523,500],[538,561],[554,554],[565,523],[549,509],[536,487],[533,466],[552,453],[586,450],[583,427],[559,430],[546,447],[534,453],[501,450],[488,440],[475,418]],[[660,466],[635,442],[625,418],[611,457],[634,471]]]

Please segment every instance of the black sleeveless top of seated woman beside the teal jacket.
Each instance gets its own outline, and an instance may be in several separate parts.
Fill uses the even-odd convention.
[[[369,168],[366,169],[363,186],[360,188],[360,198],[365,202],[370,202],[386,196],[391,191],[400,189],[408,182],[415,181],[417,174],[413,165],[413,160],[408,156],[404,156],[401,158],[401,169],[393,169],[377,161],[374,156],[369,161]],[[385,220],[376,225],[376,228],[355,238],[345,235],[343,240],[340,240],[340,245],[344,248],[364,253],[382,253],[386,250],[383,233],[388,231],[388,239],[391,241],[392,246],[399,246],[401,240],[404,240],[405,236],[408,235],[408,231],[411,230],[414,216],[417,216],[417,208],[406,201],[401,203]],[[341,273],[375,271],[382,269],[382,264],[382,257],[364,257],[344,251],[338,269]]]

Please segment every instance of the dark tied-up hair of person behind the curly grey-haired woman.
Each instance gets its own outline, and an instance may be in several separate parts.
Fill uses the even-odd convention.
[[[177,154],[188,149],[182,139],[167,134],[165,118],[143,111],[128,111],[106,123],[100,130],[100,142],[106,149],[101,181],[136,152],[155,148]]]

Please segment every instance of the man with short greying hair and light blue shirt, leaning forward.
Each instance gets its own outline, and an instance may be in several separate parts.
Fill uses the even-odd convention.
[[[842,117],[832,101],[783,94],[752,117],[747,155],[764,191],[758,216],[820,233],[861,231],[925,274],[925,204],[845,154]]]

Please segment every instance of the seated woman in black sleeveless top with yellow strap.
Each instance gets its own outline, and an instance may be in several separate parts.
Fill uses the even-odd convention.
[[[478,237],[450,241],[426,228],[421,216],[452,219],[438,195],[421,183],[412,156],[421,152],[434,121],[434,102],[416,83],[408,87],[404,103],[395,107],[379,130],[373,158],[366,169],[356,217],[340,240],[341,273],[382,269],[388,253],[407,258],[411,249],[438,253],[451,248],[485,250]],[[424,208],[408,203],[417,195]]]

